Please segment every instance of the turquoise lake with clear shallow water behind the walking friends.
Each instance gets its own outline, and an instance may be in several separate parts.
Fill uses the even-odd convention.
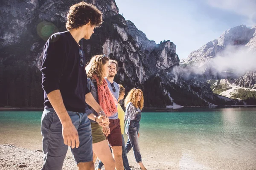
[[[0,111],[0,144],[41,148],[41,111]],[[127,137],[125,136],[125,140]],[[256,108],[143,112],[140,152],[149,169],[256,169]],[[136,164],[128,153],[131,165]]]

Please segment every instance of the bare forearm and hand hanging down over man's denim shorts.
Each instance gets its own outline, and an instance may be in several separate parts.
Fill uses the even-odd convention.
[[[79,147],[79,136],[64,106],[60,90],[51,91],[47,97],[61,121],[64,144],[72,148]]]

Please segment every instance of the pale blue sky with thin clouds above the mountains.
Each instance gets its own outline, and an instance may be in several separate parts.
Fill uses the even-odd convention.
[[[149,40],[170,40],[180,59],[229,28],[256,25],[256,0],[115,0]]]

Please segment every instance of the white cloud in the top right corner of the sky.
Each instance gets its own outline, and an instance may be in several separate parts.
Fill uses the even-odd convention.
[[[247,23],[256,23],[256,0],[207,0],[209,6],[224,9],[247,17]]]

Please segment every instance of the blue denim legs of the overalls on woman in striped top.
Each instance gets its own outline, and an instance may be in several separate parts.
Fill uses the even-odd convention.
[[[140,117],[138,118],[137,115],[137,120],[130,120],[128,119],[128,123],[126,125],[126,134],[128,136],[128,141],[126,143],[126,150],[127,153],[130,152],[131,148],[133,148],[134,151],[134,157],[137,163],[140,163],[142,161],[141,155],[140,155],[140,147],[139,147],[139,138],[138,138],[138,133],[140,129]]]

